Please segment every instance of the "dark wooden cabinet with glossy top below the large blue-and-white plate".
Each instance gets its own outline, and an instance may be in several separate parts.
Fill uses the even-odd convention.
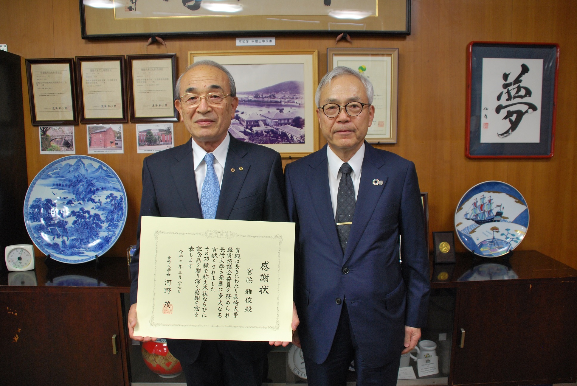
[[[114,268],[126,275],[125,260],[51,271],[37,259],[36,267],[28,273],[38,286],[7,286],[0,272],[0,384],[129,385],[121,303],[129,280],[107,275]]]

